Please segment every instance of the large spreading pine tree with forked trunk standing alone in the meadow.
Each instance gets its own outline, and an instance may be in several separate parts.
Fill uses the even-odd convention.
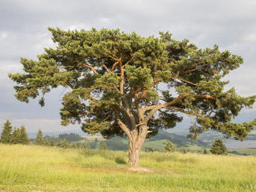
[[[181,122],[181,114],[195,117],[189,136],[209,129],[243,140],[256,120],[231,122],[239,111],[254,104],[256,96],[241,97],[221,81],[243,63],[229,51],[199,49],[189,40],[143,37],[119,29],[62,31],[49,29],[55,48],[38,60],[21,58],[24,74],[9,74],[16,81],[16,98],[29,101],[52,88],[70,87],[62,99],[62,125],[81,123],[85,132],[130,139],[130,163],[146,136]]]

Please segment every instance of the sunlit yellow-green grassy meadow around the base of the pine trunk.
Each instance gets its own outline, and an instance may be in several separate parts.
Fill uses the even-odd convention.
[[[255,156],[127,153],[0,145],[0,191],[255,191]]]

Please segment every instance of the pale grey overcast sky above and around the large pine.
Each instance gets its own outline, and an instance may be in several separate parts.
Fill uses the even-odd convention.
[[[119,28],[142,36],[169,31],[201,48],[220,46],[244,58],[226,79],[243,96],[256,94],[255,0],[1,0],[0,1],[0,126],[11,120],[29,132],[79,129],[62,127],[59,108],[63,91],[47,95],[46,106],[14,98],[9,73],[21,72],[19,57],[36,59],[43,47],[53,46],[47,27],[61,29]],[[256,107],[246,111],[256,117]]]

